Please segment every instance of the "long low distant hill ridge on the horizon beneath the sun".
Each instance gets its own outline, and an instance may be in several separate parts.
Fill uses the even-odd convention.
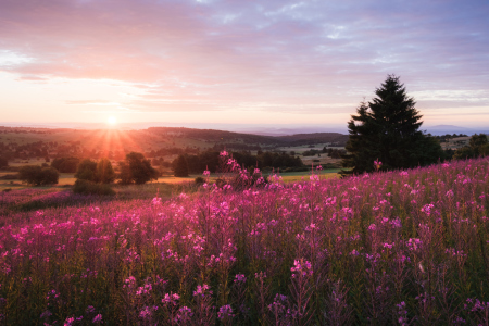
[[[9,158],[106,156],[122,160],[130,151],[148,156],[176,155],[206,149],[276,150],[317,143],[344,146],[338,133],[263,136],[216,129],[150,127],[140,130],[1,127],[0,151]]]

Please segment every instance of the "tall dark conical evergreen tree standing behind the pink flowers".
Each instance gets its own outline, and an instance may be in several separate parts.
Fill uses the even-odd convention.
[[[372,172],[375,160],[383,170],[393,170],[431,164],[443,155],[438,141],[419,131],[422,115],[399,77],[389,75],[375,95],[372,102],[360,104],[348,123],[342,175]]]

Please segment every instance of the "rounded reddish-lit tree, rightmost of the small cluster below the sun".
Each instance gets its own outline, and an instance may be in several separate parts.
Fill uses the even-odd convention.
[[[120,162],[121,184],[128,185],[135,183],[142,185],[152,179],[158,179],[158,171],[151,166],[150,160],[145,159],[141,153],[130,152],[126,155],[125,162]]]

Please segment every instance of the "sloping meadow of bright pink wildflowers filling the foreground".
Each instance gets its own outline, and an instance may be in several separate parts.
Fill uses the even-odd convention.
[[[236,173],[0,213],[0,323],[488,325],[488,160],[253,186]],[[16,191],[2,202],[68,196]]]

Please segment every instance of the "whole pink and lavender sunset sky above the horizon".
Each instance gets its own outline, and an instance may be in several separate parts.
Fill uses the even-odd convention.
[[[347,125],[388,74],[489,126],[489,2],[0,0],[0,124]]]

